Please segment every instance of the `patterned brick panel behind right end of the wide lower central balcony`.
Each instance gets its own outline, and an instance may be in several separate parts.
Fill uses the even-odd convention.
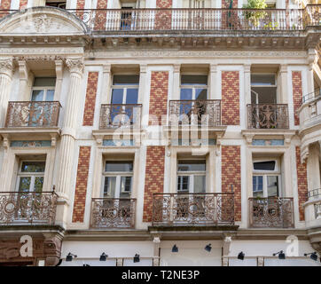
[[[222,193],[234,191],[235,221],[241,221],[240,146],[222,146]]]

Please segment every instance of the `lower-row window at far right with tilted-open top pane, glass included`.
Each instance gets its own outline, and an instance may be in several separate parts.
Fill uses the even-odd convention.
[[[253,163],[253,196],[280,196],[281,174],[278,160],[255,161]]]

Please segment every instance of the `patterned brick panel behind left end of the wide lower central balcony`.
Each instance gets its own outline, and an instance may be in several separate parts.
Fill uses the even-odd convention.
[[[152,222],[153,193],[164,190],[165,147],[147,146],[143,221]]]

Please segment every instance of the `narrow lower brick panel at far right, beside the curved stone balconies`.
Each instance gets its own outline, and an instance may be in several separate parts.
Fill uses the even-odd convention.
[[[295,155],[296,155],[296,175],[298,178],[300,221],[304,221],[304,209],[302,207],[302,204],[308,201],[307,164],[301,163],[301,150],[299,146],[295,147]]]

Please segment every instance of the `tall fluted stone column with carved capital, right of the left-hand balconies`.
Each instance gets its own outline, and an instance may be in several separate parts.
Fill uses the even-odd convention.
[[[74,139],[78,117],[78,98],[82,91],[83,59],[67,59],[70,71],[67,105],[64,111],[64,126],[61,132],[60,163],[57,193],[60,197],[69,199],[71,169],[74,163]]]

